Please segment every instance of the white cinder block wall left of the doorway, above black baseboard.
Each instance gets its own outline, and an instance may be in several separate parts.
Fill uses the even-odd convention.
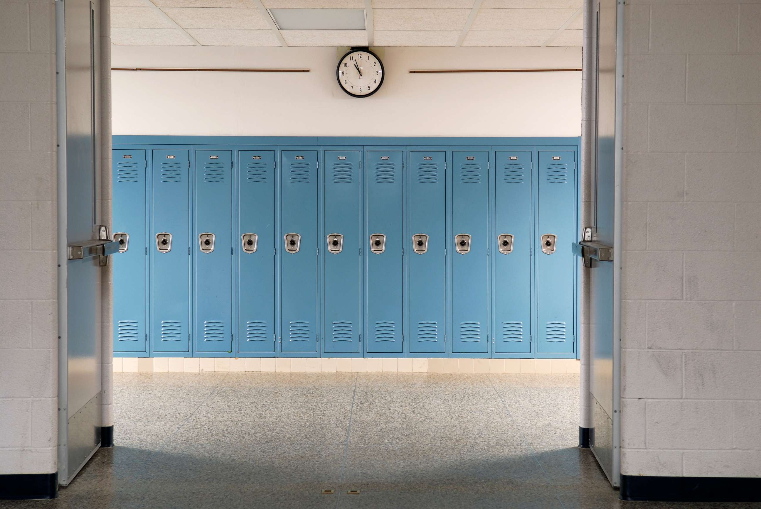
[[[0,2],[0,475],[56,472],[54,2]]]

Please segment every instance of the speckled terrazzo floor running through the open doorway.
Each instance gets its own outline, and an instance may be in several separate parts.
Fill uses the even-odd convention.
[[[619,501],[576,447],[578,383],[115,373],[116,447],[99,450],[56,500],[0,507],[748,507]]]

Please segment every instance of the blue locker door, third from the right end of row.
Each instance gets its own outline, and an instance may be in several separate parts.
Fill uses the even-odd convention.
[[[453,151],[452,352],[489,352],[489,152]],[[460,246],[470,235],[470,250]],[[461,239],[466,242],[466,239]]]

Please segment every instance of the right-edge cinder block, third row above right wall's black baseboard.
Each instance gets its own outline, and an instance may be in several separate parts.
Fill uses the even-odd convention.
[[[761,351],[686,352],[684,397],[761,399]]]

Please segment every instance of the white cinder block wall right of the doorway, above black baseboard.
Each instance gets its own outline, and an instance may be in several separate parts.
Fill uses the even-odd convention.
[[[761,476],[761,4],[625,37],[621,471]]]

